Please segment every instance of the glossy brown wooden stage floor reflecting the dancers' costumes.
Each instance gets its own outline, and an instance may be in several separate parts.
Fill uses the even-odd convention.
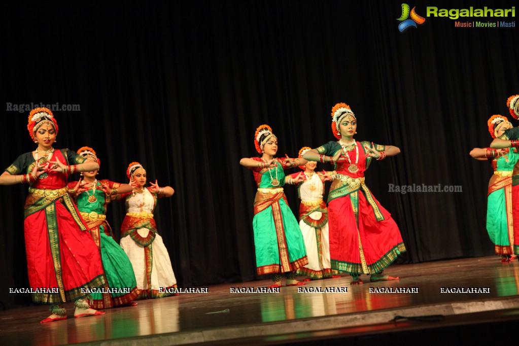
[[[45,306],[11,309],[0,313],[0,340],[4,345],[279,344],[400,327],[420,329],[416,321],[388,323],[394,316],[451,316],[451,321],[458,321],[454,324],[462,323],[460,316],[469,316],[464,321],[519,320],[517,260],[501,264],[499,257],[491,256],[394,265],[386,271],[401,279],[370,283],[363,275],[364,284],[353,286],[350,276],[343,274],[339,279],[282,287],[280,293],[231,293],[268,286],[268,280],[215,285],[208,293],[142,300],[136,307],[106,309],[103,316],[81,319],[73,318],[68,303],[69,319],[48,324],[39,323],[48,316]],[[310,287],[342,287],[347,292],[298,292]],[[380,293],[389,287],[415,292]]]

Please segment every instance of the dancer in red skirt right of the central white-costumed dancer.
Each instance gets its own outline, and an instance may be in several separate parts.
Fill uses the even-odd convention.
[[[373,158],[383,160],[400,149],[358,142],[353,139],[356,130],[357,117],[350,106],[338,103],[332,108],[332,131],[338,141],[303,155],[307,160],[336,164],[328,196],[332,268],[349,272],[352,284],[362,284],[362,273],[371,274],[371,282],[397,280],[385,275],[384,269],[405,246],[391,214],[364,184],[364,171]]]

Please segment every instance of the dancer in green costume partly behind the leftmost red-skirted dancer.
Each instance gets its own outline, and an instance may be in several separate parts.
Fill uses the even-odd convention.
[[[95,151],[90,147],[77,150],[81,157],[101,164]],[[99,170],[84,172],[83,181],[69,183],[73,189],[73,197],[77,209],[85,220],[90,234],[99,249],[103,264],[105,281],[104,291],[92,293],[91,306],[94,309],[113,308],[124,305],[137,305],[132,302],[139,291],[136,288],[135,274],[128,255],[122,250],[113,238],[113,232],[106,222],[106,205],[112,201],[111,196],[126,193],[132,190],[128,184],[114,183],[108,180],[98,181],[96,176]]]

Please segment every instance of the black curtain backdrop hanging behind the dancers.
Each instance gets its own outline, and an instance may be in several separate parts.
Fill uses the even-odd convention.
[[[516,2],[409,5],[425,17],[427,6]],[[408,249],[400,262],[494,253],[485,229],[492,171],[468,153],[488,146],[486,120],[508,115],[506,100],[519,93],[516,27],[461,28],[427,17],[401,33],[400,1],[10,6],[0,21],[0,165],[35,147],[26,131],[29,112],[13,107],[79,105],[54,112],[55,147],[93,147],[100,178],[127,182],[128,163],[139,161],[149,179],[175,188],[155,214],[181,287],[257,278],[256,187],[238,162],[256,155],[253,134],[262,123],[274,129],[281,155],[333,140],[330,111],[337,102],[356,113],[357,140],[402,150],[366,174],[400,226]],[[390,184],[460,185],[462,192],[402,194],[390,192]],[[10,287],[28,286],[26,190],[0,187],[4,308],[30,302],[27,294],[9,294]],[[297,214],[295,187],[285,191]],[[117,236],[124,213],[122,203],[108,210]]]

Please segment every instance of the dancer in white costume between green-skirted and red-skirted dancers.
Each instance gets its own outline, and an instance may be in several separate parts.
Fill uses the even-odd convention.
[[[303,154],[308,150],[311,148],[301,148],[298,157],[303,158]],[[290,175],[296,178],[303,174],[305,179],[297,184],[297,195],[301,198],[299,228],[303,233],[308,255],[308,264],[297,269],[297,274],[307,276],[304,281],[340,278],[340,275],[336,275],[338,272],[330,265],[328,209],[323,201],[324,182],[332,181],[333,172],[315,172],[316,167],[317,162],[308,161],[299,166],[303,172]]]

